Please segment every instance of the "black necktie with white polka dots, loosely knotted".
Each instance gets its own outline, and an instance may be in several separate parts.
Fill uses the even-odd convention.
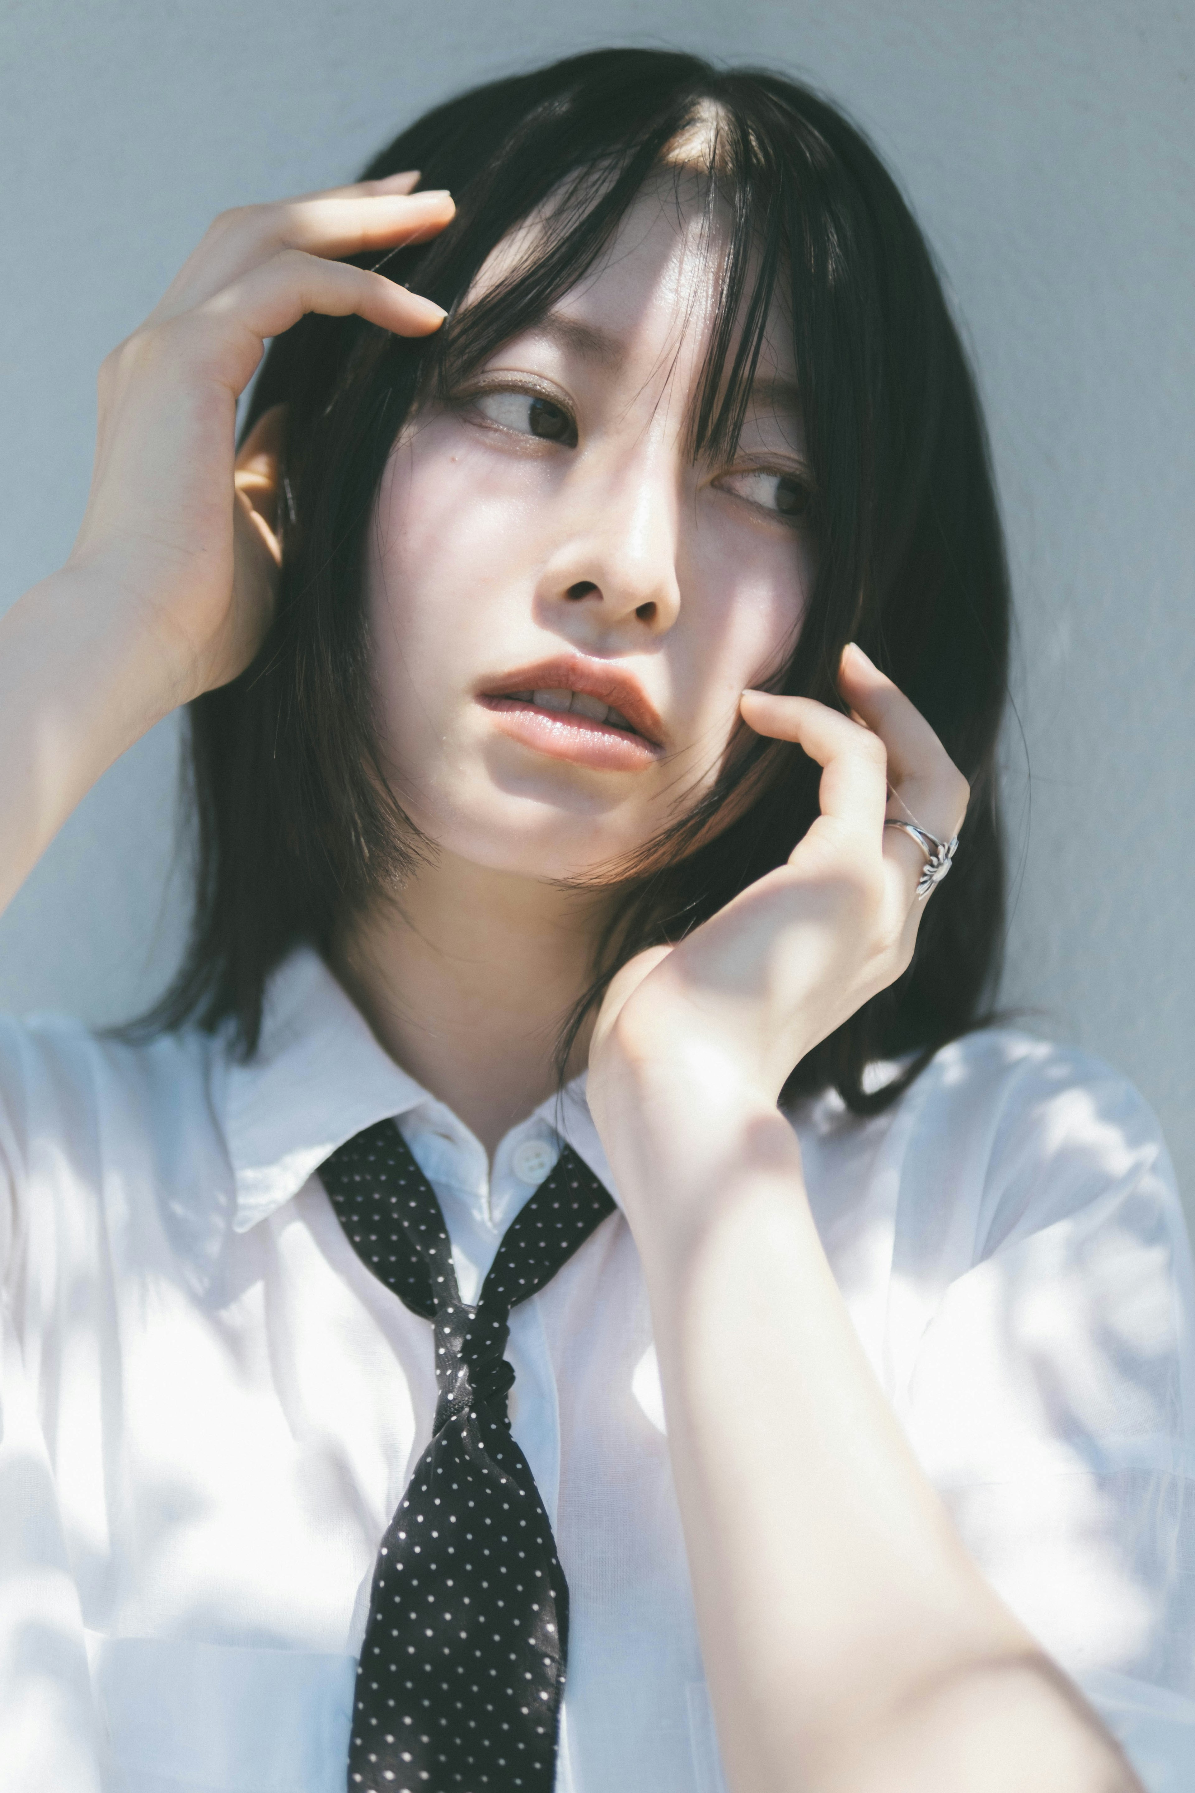
[[[392,1121],[340,1146],[319,1174],[369,1269],[434,1321],[439,1390],[432,1443],[373,1572],[348,1793],[552,1793],[568,1585],[511,1434],[503,1352],[511,1309],[615,1203],[566,1146],[466,1307],[435,1191]]]

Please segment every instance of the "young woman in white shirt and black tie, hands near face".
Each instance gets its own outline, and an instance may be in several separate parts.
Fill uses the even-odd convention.
[[[0,1031],[5,1789],[1191,1784],[1186,1237],[980,1027],[1000,527],[833,108],[219,219],[2,637],[5,896],[181,703],[199,816],[159,1013]]]

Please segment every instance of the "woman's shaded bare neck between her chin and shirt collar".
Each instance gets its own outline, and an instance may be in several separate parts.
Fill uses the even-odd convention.
[[[441,853],[346,931],[333,968],[387,1052],[493,1155],[555,1088],[559,1031],[607,905]],[[588,1044],[589,1026],[570,1076]]]

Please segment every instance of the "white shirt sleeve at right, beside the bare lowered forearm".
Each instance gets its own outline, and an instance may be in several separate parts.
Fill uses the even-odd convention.
[[[1193,1339],[1154,1115],[1082,1054],[1030,1058],[907,1422],[969,1553],[1150,1793],[1195,1786]]]

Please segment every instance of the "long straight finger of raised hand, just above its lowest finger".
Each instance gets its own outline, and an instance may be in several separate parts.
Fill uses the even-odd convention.
[[[453,215],[448,192],[387,190],[317,194],[228,212],[183,265],[150,321],[165,323],[206,303],[279,249],[321,256],[371,255],[425,242],[444,230]]]

